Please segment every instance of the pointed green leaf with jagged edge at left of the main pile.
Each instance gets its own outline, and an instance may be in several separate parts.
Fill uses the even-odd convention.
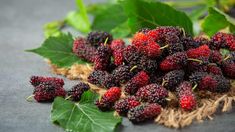
[[[27,51],[48,58],[52,64],[58,67],[69,67],[74,63],[86,63],[72,52],[72,47],[72,35],[61,34],[58,37],[49,37],[43,42],[41,47]]]

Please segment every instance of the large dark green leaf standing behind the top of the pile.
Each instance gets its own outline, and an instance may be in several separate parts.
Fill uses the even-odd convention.
[[[129,17],[132,32],[144,27],[180,26],[187,33],[193,34],[190,18],[167,4],[145,0],[122,0],[121,4]]]

